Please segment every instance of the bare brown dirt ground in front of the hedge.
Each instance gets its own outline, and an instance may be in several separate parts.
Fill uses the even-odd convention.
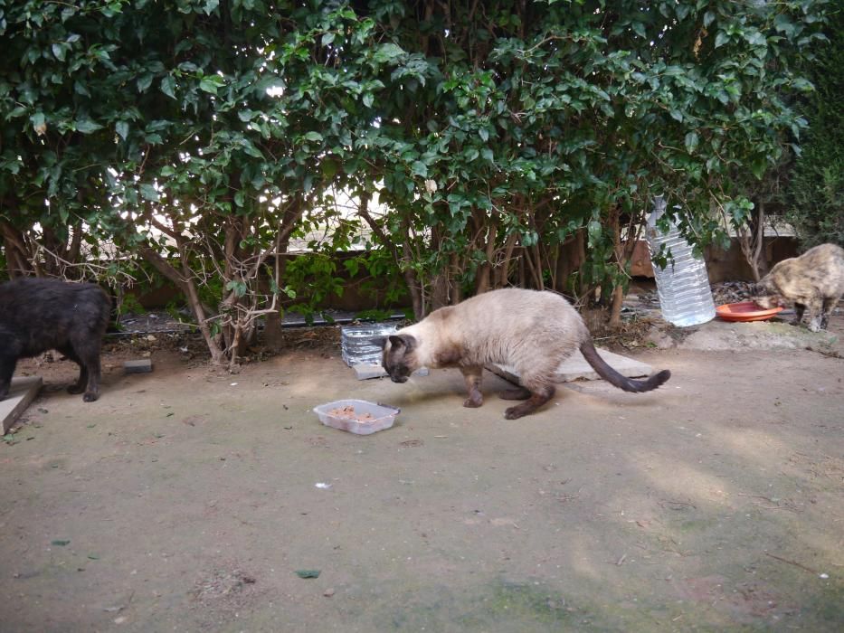
[[[492,374],[464,409],[458,372],[358,382],[319,335],[236,375],[111,345],[90,404],[70,363],[21,364],[46,386],[0,443],[0,629],[838,631],[844,316],[821,352],[751,327],[628,351],[656,392],[573,383],[513,421]],[[311,411],[348,397],[402,413]]]

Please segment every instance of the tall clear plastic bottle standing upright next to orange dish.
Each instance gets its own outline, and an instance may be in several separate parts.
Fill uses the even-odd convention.
[[[654,198],[653,212],[650,213],[645,231],[651,261],[659,253],[662,244],[671,250],[673,256],[673,262],[669,258],[664,269],[653,262],[659,307],[662,309],[662,317],[669,323],[681,327],[697,326],[715,318],[715,302],[706,274],[706,261],[695,257],[691,245],[673,222],[667,233],[659,231],[657,221],[665,210],[665,199],[658,195]]]

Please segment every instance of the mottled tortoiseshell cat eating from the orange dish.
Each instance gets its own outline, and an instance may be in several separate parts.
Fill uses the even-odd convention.
[[[794,304],[794,321],[799,326],[809,311],[809,329],[825,330],[830,315],[844,294],[844,249],[837,244],[820,244],[777,263],[751,292],[757,305],[766,310]]]

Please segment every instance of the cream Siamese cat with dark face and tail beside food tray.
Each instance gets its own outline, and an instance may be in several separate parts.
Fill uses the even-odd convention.
[[[521,387],[501,397],[525,402],[508,408],[507,420],[551,400],[557,367],[577,349],[604,380],[625,392],[650,392],[671,376],[667,369],[641,381],[622,376],[595,351],[589,330],[568,301],[552,292],[521,288],[493,290],[441,307],[377,343],[394,383],[404,383],[422,366],[459,368],[469,392],[464,407],[483,404],[480,380],[485,364],[515,367]]]

